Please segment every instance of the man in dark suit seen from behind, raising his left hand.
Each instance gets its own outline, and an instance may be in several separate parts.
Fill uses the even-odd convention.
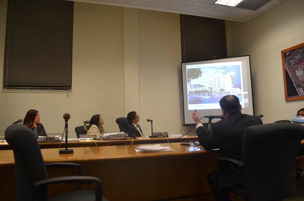
[[[241,159],[243,136],[246,128],[262,124],[257,116],[242,114],[239,98],[227,95],[220,99],[219,105],[223,119],[212,125],[212,133],[209,136],[203,127],[195,110],[192,117],[197,124],[197,135],[200,144],[206,150],[219,149],[221,157]],[[243,180],[240,170],[234,166],[225,167],[218,180],[216,171],[208,174],[208,183],[217,200],[231,200],[227,187],[242,185]]]

